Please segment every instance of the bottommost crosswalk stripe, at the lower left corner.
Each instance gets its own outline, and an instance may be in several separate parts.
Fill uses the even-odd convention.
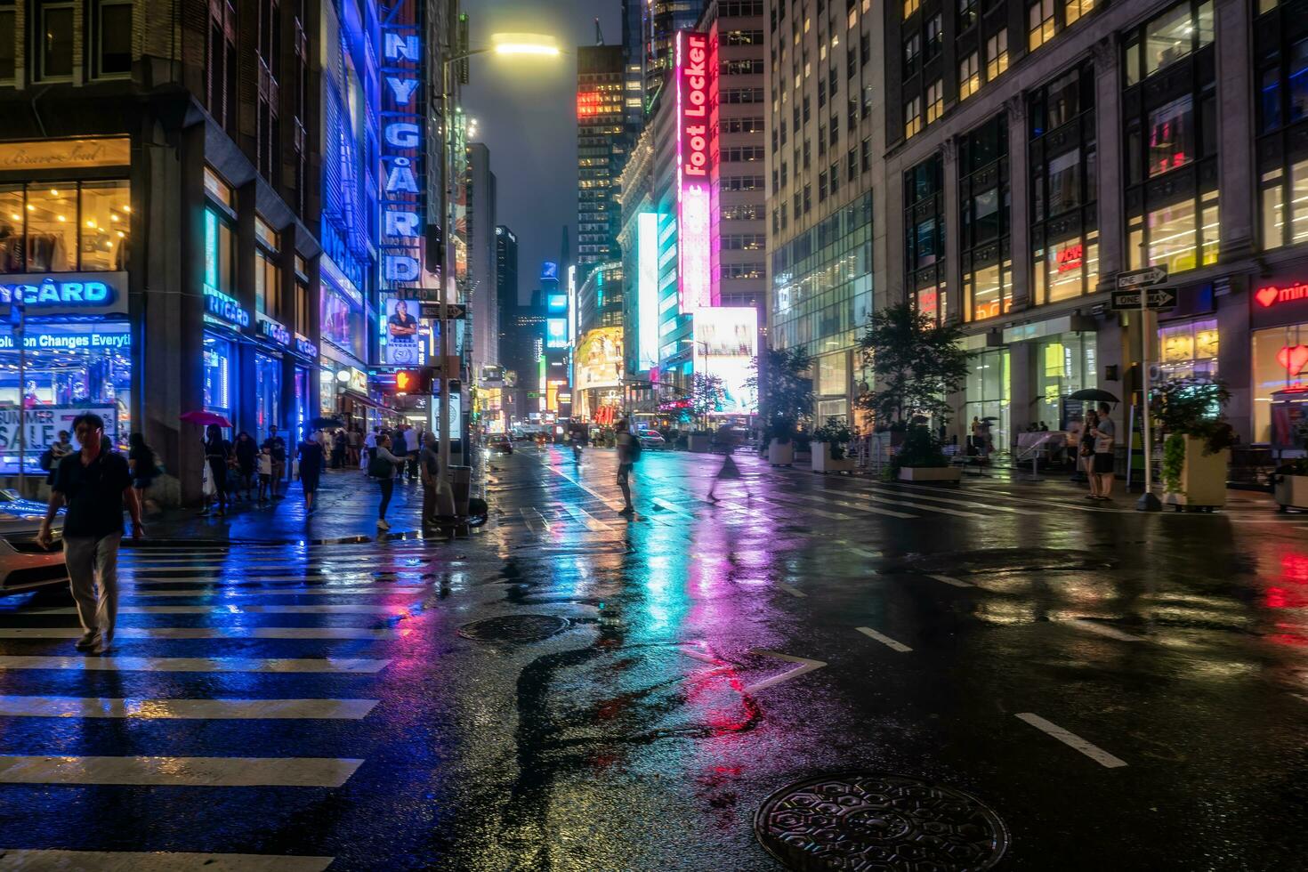
[[[324,872],[336,858],[182,851],[61,851],[0,848],[0,869],[25,872]]]

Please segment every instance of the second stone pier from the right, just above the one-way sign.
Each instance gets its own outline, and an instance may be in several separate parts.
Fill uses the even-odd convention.
[[[1113,35],[1095,43],[1095,145],[1099,154],[1099,288],[1116,286],[1126,269],[1126,210],[1122,156],[1122,82],[1117,41]]]

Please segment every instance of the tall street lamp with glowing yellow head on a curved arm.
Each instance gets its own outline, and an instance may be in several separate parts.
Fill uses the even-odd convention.
[[[497,33],[490,35],[487,48],[470,48],[451,52],[441,59],[441,112],[445,115],[445,136],[441,140],[441,437],[439,468],[437,489],[450,484],[450,371],[446,362],[454,350],[450,341],[453,322],[447,318],[450,306],[458,301],[450,299],[453,259],[450,258],[450,235],[454,226],[450,221],[450,201],[454,193],[454,112],[450,106],[450,68],[472,55],[494,52],[497,55],[527,55],[536,58],[557,58],[562,54],[553,37],[535,33]]]

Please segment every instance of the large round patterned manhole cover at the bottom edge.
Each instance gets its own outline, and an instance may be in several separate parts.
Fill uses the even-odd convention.
[[[799,872],[972,872],[994,867],[1008,847],[1003,821],[974,796],[875,773],[783,787],[759,808],[753,831]]]

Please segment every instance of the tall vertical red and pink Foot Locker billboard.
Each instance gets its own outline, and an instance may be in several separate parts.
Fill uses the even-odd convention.
[[[678,305],[689,314],[712,305],[709,93],[717,75],[709,35],[676,31]]]

